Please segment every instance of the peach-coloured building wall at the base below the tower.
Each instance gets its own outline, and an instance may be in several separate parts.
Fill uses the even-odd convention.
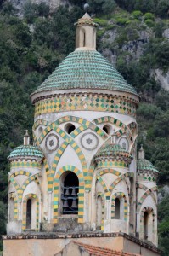
[[[3,236],[3,256],[54,256],[62,251],[70,241],[143,256],[157,256],[161,253],[156,247],[126,234],[111,233],[103,236],[99,233],[93,233],[92,235],[76,234],[69,236],[50,236],[48,234],[42,236]],[[74,255],[73,252],[72,255]]]

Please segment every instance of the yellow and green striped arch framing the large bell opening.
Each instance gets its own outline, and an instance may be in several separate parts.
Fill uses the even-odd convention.
[[[84,215],[84,189],[85,182],[83,174],[75,166],[63,166],[54,176],[53,191],[54,191],[54,201],[53,201],[53,210],[54,210],[54,223],[58,221],[58,208],[59,208],[59,179],[64,172],[74,172],[79,179],[79,194],[78,194],[78,223],[83,223]]]

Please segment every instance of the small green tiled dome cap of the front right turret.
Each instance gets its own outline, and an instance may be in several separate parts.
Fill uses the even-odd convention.
[[[105,157],[105,156],[128,156],[132,158],[132,156],[127,152],[126,149],[121,148],[119,144],[110,144],[106,145],[104,148],[101,148],[99,152],[95,155],[96,158],[98,157]]]

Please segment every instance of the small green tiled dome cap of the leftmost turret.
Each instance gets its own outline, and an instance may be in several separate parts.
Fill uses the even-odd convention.
[[[21,145],[9,154],[8,159],[13,159],[15,157],[39,157],[43,158],[42,152],[35,146],[31,145]]]

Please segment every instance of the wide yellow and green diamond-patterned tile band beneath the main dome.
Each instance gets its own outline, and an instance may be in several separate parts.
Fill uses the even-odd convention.
[[[102,95],[59,96],[35,103],[35,116],[63,111],[104,111],[136,115],[136,104],[126,99]]]

